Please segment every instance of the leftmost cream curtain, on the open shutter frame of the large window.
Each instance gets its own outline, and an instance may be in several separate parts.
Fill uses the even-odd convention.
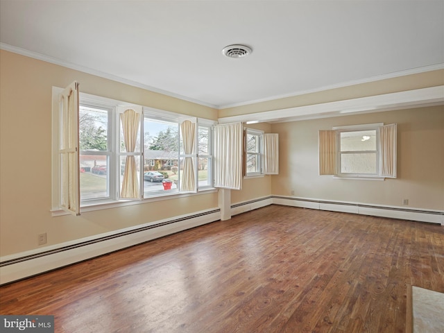
[[[71,83],[60,94],[60,207],[80,215],[80,167],[78,149],[78,83]]]

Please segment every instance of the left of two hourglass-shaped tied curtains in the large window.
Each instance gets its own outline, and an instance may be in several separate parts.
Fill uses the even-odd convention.
[[[127,153],[133,153],[139,133],[140,114],[133,109],[128,109],[120,114],[123,130],[123,141]],[[137,177],[137,164],[134,155],[126,156],[125,173],[121,187],[121,198],[139,198],[139,178]]]

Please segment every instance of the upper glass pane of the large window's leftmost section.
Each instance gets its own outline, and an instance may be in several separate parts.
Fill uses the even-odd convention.
[[[80,151],[108,151],[108,110],[80,105],[78,134]]]

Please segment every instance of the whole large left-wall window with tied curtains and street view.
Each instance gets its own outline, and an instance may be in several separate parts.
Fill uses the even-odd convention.
[[[214,121],[83,93],[68,112],[60,105],[76,102],[61,103],[60,92],[53,88],[53,211],[73,206],[68,195],[76,183],[80,207],[213,188]],[[71,131],[78,148],[62,148]]]

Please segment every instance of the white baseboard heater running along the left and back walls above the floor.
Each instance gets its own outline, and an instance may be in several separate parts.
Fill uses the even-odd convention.
[[[237,203],[231,205],[231,214],[241,214],[272,204],[444,225],[444,211],[406,209],[404,207],[343,203],[285,196],[267,196]],[[0,257],[0,285],[141,244],[168,234],[194,228],[198,225],[218,221],[219,219],[221,219],[220,209],[196,212],[194,214],[176,216],[175,219],[146,223],[135,228],[108,232],[65,244],[47,246],[26,253]]]

